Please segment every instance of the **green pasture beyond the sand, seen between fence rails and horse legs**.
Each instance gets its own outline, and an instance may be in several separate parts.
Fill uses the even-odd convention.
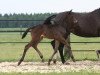
[[[0,33],[0,42],[29,42],[31,40],[30,34],[26,36],[25,39],[21,39],[20,33]],[[50,42],[51,40],[44,39],[45,42]],[[71,35],[71,41],[76,42],[98,42],[100,38],[82,38],[75,35]],[[27,43],[22,44],[0,44],[0,61],[18,61],[24,49],[24,46]],[[90,49],[100,49],[99,44],[71,44],[72,50],[90,50]],[[40,43],[38,48],[43,53],[45,60],[48,60],[51,56],[53,49],[50,43]],[[95,52],[74,52],[76,60],[97,60],[97,56]],[[25,61],[41,61],[40,57],[38,56],[37,52],[30,48],[27,52],[25,57]]]

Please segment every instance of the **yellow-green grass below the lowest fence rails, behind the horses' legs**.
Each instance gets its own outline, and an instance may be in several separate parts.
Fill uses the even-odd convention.
[[[0,61],[18,61],[22,56],[25,44],[2,44],[0,45]],[[50,44],[40,44],[39,49],[44,55],[45,60],[48,60],[53,50]],[[96,60],[95,52],[73,52],[76,60],[92,59]],[[9,57],[8,57],[9,56]],[[26,54],[25,61],[40,61],[37,52],[30,48]]]

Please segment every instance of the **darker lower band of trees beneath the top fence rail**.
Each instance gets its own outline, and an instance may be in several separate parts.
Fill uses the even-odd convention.
[[[22,28],[42,23],[44,20],[0,20],[0,28]],[[4,25],[3,25],[4,24]]]

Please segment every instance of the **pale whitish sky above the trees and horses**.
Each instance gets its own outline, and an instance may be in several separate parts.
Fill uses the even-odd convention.
[[[100,8],[100,0],[0,0],[0,13],[90,12]]]

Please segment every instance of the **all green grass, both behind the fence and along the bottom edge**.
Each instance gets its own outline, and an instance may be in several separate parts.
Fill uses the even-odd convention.
[[[27,37],[25,39],[21,39],[21,35],[20,33],[0,33],[0,42],[29,42],[31,39],[30,35],[28,34]],[[48,39],[44,39],[43,42],[50,42],[51,40]],[[82,37],[78,37],[75,36],[73,34],[71,34],[71,42],[100,42],[100,38],[82,38]],[[27,43],[0,43],[0,62],[3,63],[9,63],[9,62],[15,62],[17,65],[18,60],[20,59],[20,57],[22,56],[22,52],[24,49],[24,46]],[[39,44],[39,49],[40,51],[43,53],[44,55],[44,59],[45,62],[49,59],[49,57],[51,56],[53,49],[50,45],[50,43],[40,43]],[[99,43],[71,43],[71,47],[72,50],[98,50],[100,49]],[[91,52],[76,52],[73,51],[73,54],[75,56],[75,59],[77,60],[77,62],[80,62],[81,60],[83,61],[93,61],[98,63],[97,61],[97,56],[95,51],[91,51]],[[58,58],[59,62],[61,65],[61,61],[60,58]],[[35,63],[35,62],[41,62],[41,59],[39,58],[37,52],[33,49],[30,48],[27,52],[27,55],[25,57],[24,62],[29,62],[30,63]],[[22,65],[24,64],[24,62],[22,63]],[[71,60],[69,60],[69,62],[72,63]],[[25,65],[29,65],[29,64],[25,64]],[[43,64],[43,63],[42,63]],[[47,63],[46,63],[47,64]],[[73,64],[73,63],[72,63]],[[76,63],[77,64],[77,63]],[[31,64],[34,65],[34,64]],[[100,64],[98,64],[99,66]],[[57,66],[57,65],[56,65]],[[24,66],[26,67],[26,66]],[[91,67],[90,67],[91,68]],[[40,73],[0,73],[0,75],[42,75]],[[60,75],[60,73],[49,73],[50,75]],[[48,75],[49,75],[48,74]],[[62,73],[63,75],[66,74],[66,72]],[[80,72],[67,72],[68,75],[99,75],[98,73],[95,73],[95,71],[92,72],[88,72],[88,71],[80,71]],[[43,75],[46,75],[43,73]]]

